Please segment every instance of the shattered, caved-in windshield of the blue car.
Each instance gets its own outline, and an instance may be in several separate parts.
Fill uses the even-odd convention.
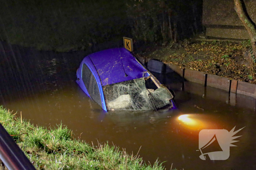
[[[173,95],[152,80],[140,78],[103,86],[108,110],[155,110],[170,106]]]

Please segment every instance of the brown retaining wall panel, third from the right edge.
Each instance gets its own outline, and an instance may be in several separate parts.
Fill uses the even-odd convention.
[[[185,69],[184,79],[205,85],[207,74],[201,71]]]

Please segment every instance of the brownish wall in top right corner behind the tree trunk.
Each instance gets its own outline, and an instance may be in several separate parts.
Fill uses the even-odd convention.
[[[256,22],[256,0],[244,0],[252,21]],[[206,36],[249,39],[248,33],[234,10],[233,0],[203,0],[203,25]]]

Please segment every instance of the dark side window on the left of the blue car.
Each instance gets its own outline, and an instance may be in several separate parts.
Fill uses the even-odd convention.
[[[97,81],[86,64],[83,64],[82,79],[91,98],[102,107]]]

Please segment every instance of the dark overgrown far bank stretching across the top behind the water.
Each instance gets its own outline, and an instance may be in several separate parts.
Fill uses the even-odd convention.
[[[1,40],[39,50],[117,47],[123,36],[136,45],[162,44],[204,30],[202,0],[3,0],[0,6]]]

